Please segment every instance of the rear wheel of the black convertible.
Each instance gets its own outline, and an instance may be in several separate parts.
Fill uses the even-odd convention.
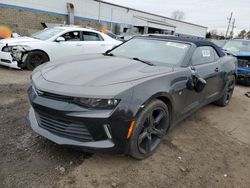
[[[235,76],[230,75],[228,76],[228,81],[222,97],[219,100],[215,101],[214,104],[222,107],[227,106],[230,102],[230,99],[232,98],[234,87],[235,87]]]

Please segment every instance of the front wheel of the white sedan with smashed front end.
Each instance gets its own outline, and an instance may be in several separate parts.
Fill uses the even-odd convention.
[[[34,52],[28,53],[28,56],[24,63],[28,70],[34,70],[37,66],[48,61],[49,61],[49,58],[45,53],[34,51]]]

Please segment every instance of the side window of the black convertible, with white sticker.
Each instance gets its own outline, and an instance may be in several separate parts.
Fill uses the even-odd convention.
[[[217,52],[210,46],[196,48],[192,56],[192,65],[215,62],[219,59]]]

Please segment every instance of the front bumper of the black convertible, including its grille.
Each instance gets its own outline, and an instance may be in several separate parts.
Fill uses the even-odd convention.
[[[124,110],[88,110],[67,101],[35,95],[31,90],[28,120],[39,135],[83,151],[127,153],[126,136],[131,119]]]

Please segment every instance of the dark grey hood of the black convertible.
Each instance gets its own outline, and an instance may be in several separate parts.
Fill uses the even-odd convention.
[[[41,69],[49,82],[72,86],[107,86],[171,72],[171,67],[149,66],[121,57],[95,56],[66,63],[48,63]]]

